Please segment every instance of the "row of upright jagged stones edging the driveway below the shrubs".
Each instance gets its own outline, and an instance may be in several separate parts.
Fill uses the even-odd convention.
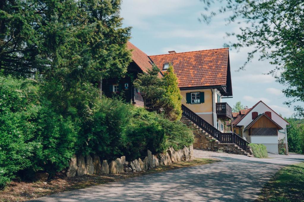
[[[100,161],[96,155],[76,156],[74,155],[66,171],[67,177],[81,176],[84,174],[119,174],[124,172],[147,171],[159,165],[170,165],[178,161],[190,161],[194,159],[193,145],[175,151],[170,147],[164,154],[152,154],[147,150],[145,158],[126,161],[122,156],[108,163],[107,160]]]

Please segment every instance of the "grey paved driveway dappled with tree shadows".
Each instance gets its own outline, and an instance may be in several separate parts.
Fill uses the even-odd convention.
[[[253,201],[280,168],[304,161],[304,155],[296,154],[257,159],[195,150],[194,155],[222,161],[54,194],[33,201]]]

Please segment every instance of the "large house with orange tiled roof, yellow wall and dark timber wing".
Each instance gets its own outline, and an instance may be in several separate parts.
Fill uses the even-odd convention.
[[[148,56],[128,42],[132,51],[132,62],[124,78],[102,81],[102,91],[108,97],[122,95],[127,102],[143,106],[140,92],[132,81],[138,73],[147,72],[154,63],[160,69],[160,77],[171,63],[178,78],[178,87],[183,96],[182,104],[198,114],[209,124],[224,131],[224,120],[232,119],[232,109],[223,102],[224,97],[232,96],[229,49],[219,48]]]

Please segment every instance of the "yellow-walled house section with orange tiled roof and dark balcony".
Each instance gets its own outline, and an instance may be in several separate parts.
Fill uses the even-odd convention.
[[[232,96],[229,49],[191,51],[151,55],[162,71],[174,67],[184,104],[191,111],[224,131],[224,120],[232,119],[232,109],[222,98]]]

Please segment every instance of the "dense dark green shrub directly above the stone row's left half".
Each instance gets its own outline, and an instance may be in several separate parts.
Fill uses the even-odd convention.
[[[131,107],[118,98],[98,99],[92,108],[91,118],[81,125],[78,153],[95,153],[104,159],[122,155]]]

